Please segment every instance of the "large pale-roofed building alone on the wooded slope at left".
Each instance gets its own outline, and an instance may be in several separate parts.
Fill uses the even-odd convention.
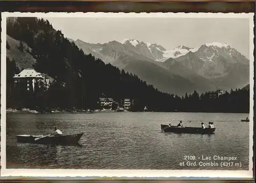
[[[28,91],[36,92],[41,87],[48,89],[50,86],[50,79],[46,79],[41,73],[37,73],[33,69],[25,69],[19,74],[15,74],[13,79],[15,87],[24,88]]]

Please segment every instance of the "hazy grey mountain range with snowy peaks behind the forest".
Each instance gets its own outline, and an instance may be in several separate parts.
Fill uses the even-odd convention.
[[[69,40],[84,53],[136,74],[166,93],[229,91],[249,84],[249,60],[226,43],[205,43],[197,48],[178,45],[166,50],[162,45],[136,39],[103,44]]]

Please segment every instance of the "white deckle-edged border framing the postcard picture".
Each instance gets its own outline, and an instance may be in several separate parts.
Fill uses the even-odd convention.
[[[253,177],[253,95],[254,95],[254,13],[21,13],[3,12],[1,33],[1,176],[41,176],[41,177],[222,177],[252,178]],[[75,170],[75,169],[6,169],[6,18],[7,17],[109,17],[118,18],[248,18],[250,21],[250,114],[249,114],[249,170]]]

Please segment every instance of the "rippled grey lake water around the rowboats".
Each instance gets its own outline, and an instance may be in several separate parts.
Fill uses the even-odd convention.
[[[248,114],[99,112],[91,114],[7,113],[6,167],[54,169],[215,169],[248,170]],[[160,125],[201,127],[214,122],[215,134],[162,133]],[[191,122],[189,122],[191,121]],[[57,125],[63,134],[84,132],[81,146],[17,143],[17,134],[49,134]],[[195,155],[196,166],[187,166],[184,156]],[[227,167],[214,158],[234,156]],[[199,159],[200,158],[200,159]],[[184,162],[185,166],[180,163]],[[190,162],[195,162],[190,160]],[[218,166],[199,166],[216,162]],[[227,161],[223,161],[227,162]],[[241,162],[241,167],[235,163]]]

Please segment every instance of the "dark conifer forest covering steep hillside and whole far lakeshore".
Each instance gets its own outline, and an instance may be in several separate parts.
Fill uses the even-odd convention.
[[[84,54],[48,20],[35,17],[8,19],[7,34],[11,36],[9,40],[19,42],[19,45],[7,42],[8,107],[95,109],[99,107],[99,97],[104,95],[117,101],[134,99],[134,111],[147,106],[152,111],[248,112],[248,90],[226,93],[217,99],[208,95],[199,97],[196,91],[182,98],[162,93],[136,75]],[[13,47],[16,54],[13,54]],[[20,96],[13,88],[12,80],[22,69],[20,65],[32,66],[55,82],[47,92],[34,94],[28,91]]]

